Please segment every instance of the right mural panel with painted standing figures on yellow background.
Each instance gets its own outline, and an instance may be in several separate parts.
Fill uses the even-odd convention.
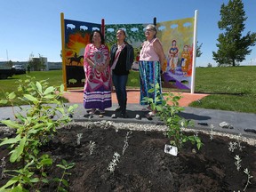
[[[164,87],[191,89],[194,18],[156,24],[166,57]]]

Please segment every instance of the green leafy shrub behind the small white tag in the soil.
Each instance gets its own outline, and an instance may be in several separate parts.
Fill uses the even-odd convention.
[[[190,141],[192,144],[196,144],[196,147],[200,149],[203,145],[200,138],[196,135],[188,136],[181,130],[181,128],[187,128],[193,124],[189,120],[179,116],[179,113],[184,110],[184,108],[179,106],[180,95],[175,96],[172,92],[164,92],[160,95],[159,84],[156,84],[155,89],[150,89],[148,92],[156,91],[156,100],[154,101],[152,98],[148,97],[144,98],[144,100],[149,103],[153,110],[156,110],[156,116],[159,116],[160,119],[164,121],[164,124],[169,127],[167,136],[170,139],[171,145],[182,148],[183,143]],[[172,105],[169,103],[172,103]]]

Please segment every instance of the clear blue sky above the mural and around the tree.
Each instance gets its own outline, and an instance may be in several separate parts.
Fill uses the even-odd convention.
[[[244,0],[248,19],[245,30],[256,32],[256,1]],[[130,24],[179,20],[194,17],[198,10],[197,40],[203,44],[196,66],[207,66],[216,52],[220,34],[221,4],[228,0],[6,0],[1,2],[0,12],[0,61],[27,61],[31,53],[35,57],[47,57],[48,61],[61,61],[60,12],[65,19],[106,24]],[[256,46],[242,65],[256,65]]]

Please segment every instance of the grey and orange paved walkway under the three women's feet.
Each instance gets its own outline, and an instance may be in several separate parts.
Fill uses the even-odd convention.
[[[180,113],[180,116],[193,121],[193,129],[210,132],[211,126],[214,126],[213,132],[242,134],[245,137],[256,139],[256,114],[188,107],[188,103],[193,100],[200,100],[205,96],[204,94],[182,93],[183,98],[180,100],[180,106],[184,107],[184,111]],[[146,118],[145,114],[147,112],[142,111],[142,106],[138,104],[140,100],[140,92],[138,91],[128,92],[127,118],[121,118],[118,113],[116,114],[117,118],[111,118],[117,108],[115,92],[112,94],[112,108],[107,108],[103,117],[88,115],[83,106],[83,90],[69,92],[65,97],[69,100],[67,105],[78,104],[73,116],[76,122],[107,120],[122,123],[163,124],[157,117],[153,117],[152,120]],[[25,106],[25,108],[27,107]],[[20,111],[20,108],[15,107],[13,110],[16,113]],[[136,119],[136,115],[140,115],[141,119]],[[0,108],[0,120],[6,118],[14,119],[13,111],[10,107]],[[222,128],[220,126],[221,123],[228,124],[228,128]]]

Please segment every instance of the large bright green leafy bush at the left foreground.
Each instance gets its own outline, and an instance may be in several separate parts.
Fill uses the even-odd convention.
[[[71,121],[70,115],[77,107],[74,105],[68,108],[60,100],[64,93],[63,84],[60,87],[48,86],[46,80],[38,82],[31,76],[26,80],[19,80],[18,84],[18,91],[6,92],[5,99],[0,100],[0,103],[9,102],[14,108],[13,100],[23,100],[29,108],[19,106],[20,112],[15,114],[13,110],[15,120],[1,121],[16,130],[16,137],[5,138],[0,146],[8,145],[11,150],[10,162],[21,164],[21,167],[18,170],[5,170],[12,172],[9,175],[12,178],[0,191],[7,188],[15,191],[26,191],[28,187],[37,189],[42,182],[48,182],[44,168],[52,165],[52,158],[41,155],[40,148],[51,139],[56,127]]]

